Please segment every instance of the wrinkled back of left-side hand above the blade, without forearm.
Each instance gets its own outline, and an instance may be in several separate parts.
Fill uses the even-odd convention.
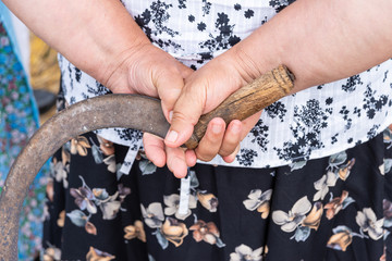
[[[169,121],[170,111],[184,86],[184,78],[193,70],[149,42],[134,47],[123,53],[121,59],[120,66],[107,79],[106,86],[113,94],[139,94],[159,98],[163,114]]]

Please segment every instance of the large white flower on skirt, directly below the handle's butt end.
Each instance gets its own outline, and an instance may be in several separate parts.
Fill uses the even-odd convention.
[[[305,220],[306,213],[311,209],[311,203],[305,196],[295,202],[293,208],[285,213],[282,210],[272,212],[272,220],[275,224],[281,225],[282,231],[293,232]]]

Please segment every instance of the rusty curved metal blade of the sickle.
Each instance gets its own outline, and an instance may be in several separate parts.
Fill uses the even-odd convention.
[[[135,128],[164,137],[169,123],[159,100],[137,95],[87,99],[48,120],[16,158],[5,179],[0,196],[0,260],[17,260],[23,200],[45,162],[71,138],[108,127]]]

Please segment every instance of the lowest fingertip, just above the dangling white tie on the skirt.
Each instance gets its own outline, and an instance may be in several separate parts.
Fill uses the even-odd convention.
[[[182,148],[166,147],[167,166],[175,177],[182,178],[187,174],[185,151]]]

